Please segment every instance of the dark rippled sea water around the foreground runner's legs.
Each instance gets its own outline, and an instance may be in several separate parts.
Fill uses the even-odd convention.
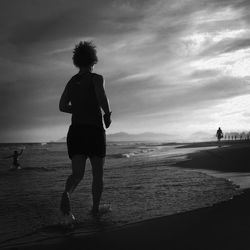
[[[12,159],[25,148],[21,170],[9,171]],[[72,195],[75,233],[91,234],[141,220],[211,206],[237,194],[233,183],[174,166],[200,149],[178,144],[108,143],[102,203],[112,212],[96,221],[90,214],[91,166]],[[0,144],[0,248],[34,238],[61,237],[59,203],[71,163],[65,143]]]

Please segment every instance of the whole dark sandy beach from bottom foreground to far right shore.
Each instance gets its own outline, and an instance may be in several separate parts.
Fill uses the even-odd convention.
[[[209,147],[216,143],[186,144],[182,147]],[[250,190],[248,173],[250,143],[223,142],[221,147],[187,156],[174,167],[207,171],[228,178],[242,193],[211,207],[110,228],[90,236],[73,232],[64,237],[34,241],[11,249],[249,249]]]

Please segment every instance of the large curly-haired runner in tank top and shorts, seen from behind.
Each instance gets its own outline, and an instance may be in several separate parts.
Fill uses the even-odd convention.
[[[65,224],[75,220],[71,213],[70,194],[82,180],[87,158],[92,166],[92,214],[100,212],[103,191],[103,167],[106,156],[106,135],[103,126],[111,124],[111,110],[104,89],[103,76],[92,73],[98,61],[92,42],[80,42],[73,52],[73,63],[79,69],[67,83],[60,99],[59,109],[72,114],[67,134],[68,155],[72,161],[72,174],[68,177],[62,194],[60,209]],[[102,111],[101,111],[102,110]]]

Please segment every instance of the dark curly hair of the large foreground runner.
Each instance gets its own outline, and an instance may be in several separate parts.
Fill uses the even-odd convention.
[[[92,67],[98,62],[96,46],[92,41],[80,42],[73,52],[73,63],[76,67]]]

